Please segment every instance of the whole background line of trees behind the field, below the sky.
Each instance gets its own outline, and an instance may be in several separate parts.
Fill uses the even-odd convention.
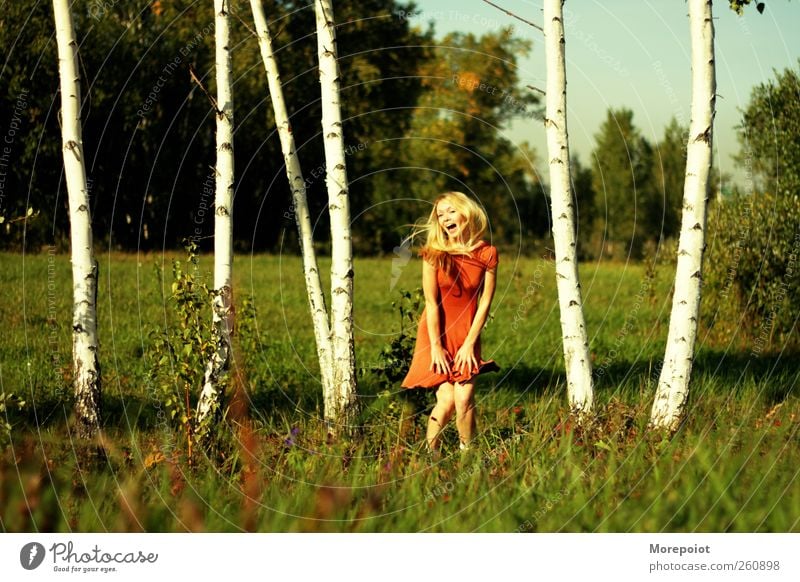
[[[240,250],[294,252],[291,195],[282,179],[258,44],[246,24],[247,2],[233,7],[234,90],[241,112],[234,239]],[[292,130],[307,168],[309,204],[321,233],[317,240],[325,244],[319,82],[309,32],[313,11],[306,8],[299,2],[265,2]],[[530,118],[531,131],[539,131],[534,118],[542,115],[541,100],[520,86],[517,69],[531,43],[515,38],[511,29],[437,37],[432,25],[423,29],[409,18],[414,10],[413,4],[390,0],[339,8],[356,252],[391,252],[402,227],[424,215],[425,201],[446,189],[480,198],[498,244],[549,239],[548,189],[537,172],[538,154],[503,134],[519,118]],[[0,245],[19,249],[24,236],[28,250],[66,246],[49,6],[13,3],[2,19],[4,46],[27,50],[11,51],[2,72],[6,95],[0,121],[13,123],[15,143],[2,160],[0,214],[7,224]],[[21,21],[26,22],[21,29],[7,25]],[[213,94],[212,11],[189,0],[87,3],[75,7],[75,22],[96,240],[132,250],[176,248],[184,237],[194,237],[201,249],[210,249],[214,124],[209,100],[192,74]],[[767,86],[757,88],[743,118],[740,161],[753,181],[745,187],[750,193],[796,193],[796,73],[779,74],[778,86],[785,98],[768,102]],[[773,139],[767,125],[774,120],[788,137]],[[574,159],[582,258],[640,258],[677,235],[686,131],[673,120],[653,143],[636,127],[631,110],[608,111],[591,160]],[[727,177],[715,181],[712,198],[736,190],[727,186]],[[23,221],[9,224],[31,207],[38,214],[24,229]]]

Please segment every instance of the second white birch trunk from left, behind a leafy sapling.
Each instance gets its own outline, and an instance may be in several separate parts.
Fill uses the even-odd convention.
[[[197,403],[196,427],[218,410],[222,380],[230,367],[233,332],[233,69],[230,53],[230,0],[214,0],[217,74],[217,164],[214,194],[214,354],[206,364]]]

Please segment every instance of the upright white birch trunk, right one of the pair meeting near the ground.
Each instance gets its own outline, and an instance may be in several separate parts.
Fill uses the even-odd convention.
[[[330,0],[314,2],[325,143],[325,183],[331,220],[331,333],[333,392],[326,394],[325,420],[333,433],[356,413],[355,349],[353,342],[353,247],[350,238],[350,200],[345,166],[339,102],[339,67],[333,7]]]

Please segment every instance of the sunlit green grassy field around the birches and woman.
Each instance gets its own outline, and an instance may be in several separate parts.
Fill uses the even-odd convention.
[[[150,332],[171,321],[174,258],[98,256],[98,454],[69,432],[69,257],[0,255],[0,392],[26,401],[4,415],[3,531],[800,531],[796,358],[731,351],[701,330],[687,422],[672,439],[645,430],[669,265],[582,266],[598,418],[575,430],[553,265],[502,253],[482,336],[502,371],[478,385],[479,445],[460,454],[448,427],[434,461],[424,410],[400,434],[398,386],[370,373],[363,435],[326,442],[300,261],[238,256],[237,304],[252,296],[257,312],[246,418],[190,464],[148,380]],[[211,268],[202,257],[198,274]],[[358,365],[375,367],[399,331],[399,290],[420,285],[419,260],[359,259],[355,285]]]

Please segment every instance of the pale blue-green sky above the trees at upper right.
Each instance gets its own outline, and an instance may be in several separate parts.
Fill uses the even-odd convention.
[[[523,18],[542,24],[541,0],[493,0]],[[424,25],[437,35],[451,31],[476,35],[513,25],[515,34],[533,42],[520,61],[525,85],[544,88],[542,33],[483,0],[416,0]],[[754,5],[738,16],[728,2],[714,4],[717,61],[715,165],[741,180],[732,156],[739,151],[735,126],[752,89],[775,79],[775,71],[797,68],[800,58],[800,0],[765,0],[763,14]],[[684,0],[571,0],[564,4],[567,59],[567,109],[570,148],[584,164],[591,159],[594,136],[609,108],[626,107],[642,134],[656,143],[675,117],[689,124],[691,91],[688,6]],[[528,141],[545,159],[541,123],[520,120],[508,136]],[[540,171],[546,171],[540,164]]]

